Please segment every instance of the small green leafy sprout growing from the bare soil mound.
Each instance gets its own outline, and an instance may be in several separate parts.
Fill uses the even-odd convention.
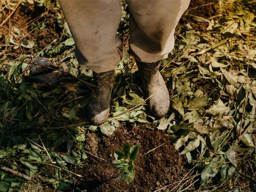
[[[122,173],[117,177],[119,180],[124,180],[130,184],[135,176],[134,161],[139,152],[139,145],[130,146],[130,143],[123,145],[122,151],[115,151],[115,160],[111,163],[117,170]]]

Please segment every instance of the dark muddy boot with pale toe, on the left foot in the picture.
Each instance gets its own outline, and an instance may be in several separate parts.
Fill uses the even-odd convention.
[[[108,119],[115,71],[93,72],[93,77],[97,87],[93,87],[93,92],[87,105],[87,113],[93,124],[100,125]]]

